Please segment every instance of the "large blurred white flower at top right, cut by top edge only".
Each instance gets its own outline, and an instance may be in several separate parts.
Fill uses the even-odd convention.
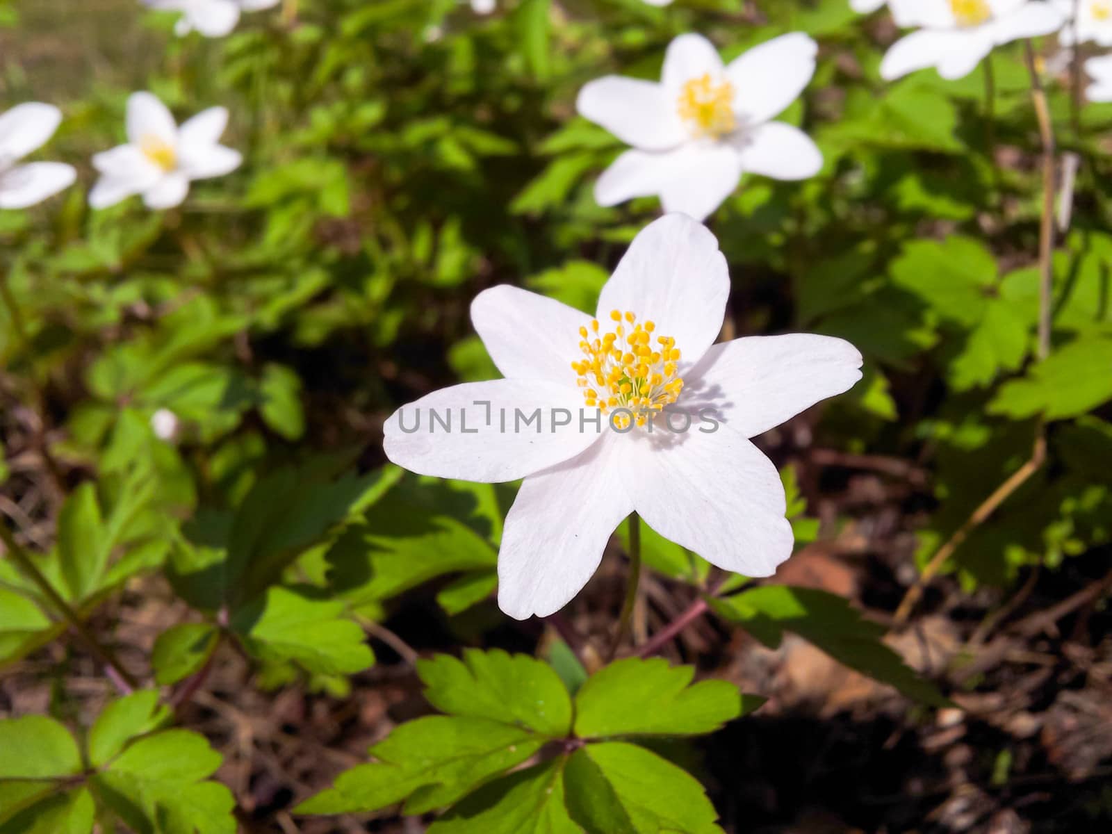
[[[1043,0],[888,0],[904,26],[921,29],[896,41],[881,62],[886,80],[934,67],[946,79],[972,72],[993,47],[1050,34],[1065,18]]]

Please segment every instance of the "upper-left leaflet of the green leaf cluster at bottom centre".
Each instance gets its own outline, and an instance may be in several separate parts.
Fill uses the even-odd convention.
[[[517,724],[550,738],[572,729],[572,699],[548,664],[502,649],[465,649],[464,659],[418,661],[425,697],[450,715]]]

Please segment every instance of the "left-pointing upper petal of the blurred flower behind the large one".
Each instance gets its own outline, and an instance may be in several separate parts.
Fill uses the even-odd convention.
[[[606,76],[585,85],[575,107],[635,148],[666,150],[686,138],[675,95],[654,81]]]

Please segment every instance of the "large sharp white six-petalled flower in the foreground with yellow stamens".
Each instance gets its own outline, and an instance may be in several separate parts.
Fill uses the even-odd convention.
[[[481,292],[471,322],[505,378],[435,391],[386,421],[387,457],[415,473],[525,478],[498,553],[506,614],[567,604],[634,512],[746,576],[791,555],[784,488],[749,438],[847,390],[862,358],[827,336],[715,345],[728,295],[714,236],[667,215],[633,241],[596,317],[516,287]]]

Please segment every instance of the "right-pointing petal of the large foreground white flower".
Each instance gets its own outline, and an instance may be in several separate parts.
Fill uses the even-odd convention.
[[[685,410],[712,408],[744,437],[775,428],[861,379],[861,353],[831,336],[751,336],[715,345],[684,376]]]

